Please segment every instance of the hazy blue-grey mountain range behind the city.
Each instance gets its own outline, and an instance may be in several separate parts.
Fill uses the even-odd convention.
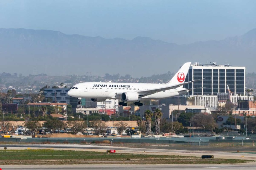
[[[0,73],[133,77],[176,72],[183,63],[246,66],[255,71],[256,29],[242,36],[186,45],[148,37],[133,40],[66,35],[58,31],[0,29]]]

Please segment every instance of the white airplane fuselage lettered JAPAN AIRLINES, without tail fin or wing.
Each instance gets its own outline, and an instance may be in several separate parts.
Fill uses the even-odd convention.
[[[149,84],[149,83],[101,83],[101,82],[85,82],[73,86],[68,95],[77,98],[97,98],[97,99],[118,99],[116,94],[124,92],[137,92],[140,90],[150,90],[164,87],[166,84]],[[147,95],[141,99],[162,99],[187,93],[185,88],[178,87]]]

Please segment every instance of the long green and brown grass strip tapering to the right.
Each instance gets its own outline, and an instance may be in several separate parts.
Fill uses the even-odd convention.
[[[0,150],[0,165],[12,164],[234,164],[253,162],[234,159],[201,159],[199,157],[119,154],[72,150]]]

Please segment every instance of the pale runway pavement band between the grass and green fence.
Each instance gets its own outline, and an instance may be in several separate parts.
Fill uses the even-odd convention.
[[[220,159],[248,159],[256,161],[256,153],[254,148],[239,148],[243,149],[240,152],[234,151],[234,148],[218,148],[218,147],[179,147],[176,150],[173,147],[161,148],[156,146],[154,148],[135,148],[135,147],[116,147],[116,146],[99,146],[99,145],[79,145],[79,144],[58,144],[58,145],[0,145],[0,147],[7,147],[7,149],[65,149],[65,150],[82,150],[82,151],[99,151],[116,150],[117,153],[134,153],[134,154],[155,154],[155,155],[179,155],[179,156],[196,156],[214,155],[214,158]],[[189,148],[189,150],[188,150]],[[187,150],[186,150],[187,149]],[[200,149],[200,150],[199,150]],[[243,153],[246,152],[246,153]]]

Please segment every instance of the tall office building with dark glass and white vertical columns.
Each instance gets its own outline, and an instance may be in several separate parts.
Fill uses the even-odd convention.
[[[190,95],[217,95],[218,93],[228,93],[227,85],[234,95],[245,95],[245,67],[234,67],[230,65],[212,64],[191,64],[186,82],[202,79],[185,85],[185,88],[193,89],[189,92]]]

